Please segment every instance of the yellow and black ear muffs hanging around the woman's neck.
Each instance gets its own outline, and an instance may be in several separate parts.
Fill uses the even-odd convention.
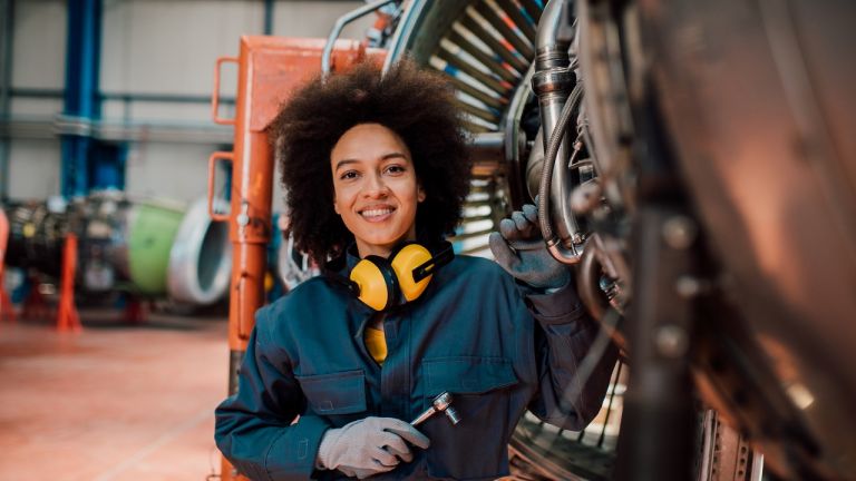
[[[346,284],[357,298],[374,311],[417,300],[431,281],[434,271],[451,262],[451,244],[444,242],[436,255],[417,243],[405,243],[383,258],[366,256],[351,269]]]

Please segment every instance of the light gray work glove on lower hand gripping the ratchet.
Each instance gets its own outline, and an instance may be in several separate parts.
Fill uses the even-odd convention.
[[[366,418],[324,432],[318,449],[321,469],[364,479],[392,471],[400,461],[410,462],[414,454],[405,441],[426,449],[430,441],[405,421],[393,418]]]

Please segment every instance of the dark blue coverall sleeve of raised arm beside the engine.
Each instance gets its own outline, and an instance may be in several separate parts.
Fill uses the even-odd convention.
[[[572,281],[548,294],[529,293],[526,300],[531,315],[537,321],[534,354],[538,394],[528,409],[551,424],[580,431],[601,410],[617,347],[610,342],[588,379],[581,380],[580,365],[588,354],[600,325],[576,295],[575,283]]]

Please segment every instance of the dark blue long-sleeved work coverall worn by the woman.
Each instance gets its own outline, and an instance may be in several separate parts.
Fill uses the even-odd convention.
[[[349,256],[342,274],[357,261]],[[524,411],[582,429],[616,359],[610,346],[581,395],[561,403],[599,327],[573,286],[526,291],[490,261],[455,257],[421,297],[386,315],[381,369],[363,342],[374,313],[329,278],[304,282],[257,312],[239,392],[216,410],[217,446],[253,480],[341,479],[314,470],[327,429],[367,416],[409,422],[446,391],[460,423],[430,418],[419,426],[430,448],[371,479],[507,475],[506,444]]]

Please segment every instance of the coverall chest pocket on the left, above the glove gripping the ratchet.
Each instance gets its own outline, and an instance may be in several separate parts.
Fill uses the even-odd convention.
[[[342,426],[364,416],[366,374],[362,370],[298,376],[308,409]]]

